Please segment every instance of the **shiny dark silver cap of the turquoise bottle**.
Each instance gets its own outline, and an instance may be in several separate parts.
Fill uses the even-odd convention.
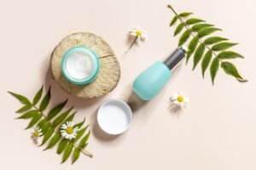
[[[172,70],[185,56],[186,54],[186,49],[183,47],[179,47],[175,49],[175,51],[170,54],[167,59],[164,61],[164,64]]]

